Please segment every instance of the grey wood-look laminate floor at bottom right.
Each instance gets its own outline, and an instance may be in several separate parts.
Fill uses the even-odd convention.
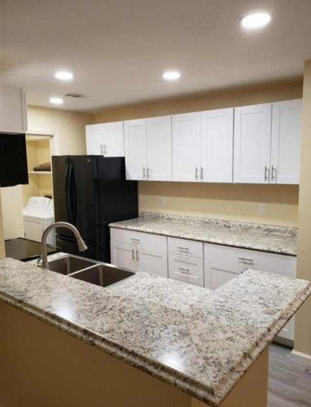
[[[270,345],[268,407],[311,407],[311,360]]]

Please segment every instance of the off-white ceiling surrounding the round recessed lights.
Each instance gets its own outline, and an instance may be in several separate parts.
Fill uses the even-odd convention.
[[[74,91],[92,111],[228,86],[301,77],[311,58],[311,0],[0,0],[0,71],[30,104]],[[239,19],[273,14],[245,32]],[[161,73],[175,68],[179,81]],[[70,83],[53,73],[69,69]],[[59,106],[57,106],[59,107]]]

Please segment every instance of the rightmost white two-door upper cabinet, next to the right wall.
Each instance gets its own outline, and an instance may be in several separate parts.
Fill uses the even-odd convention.
[[[234,109],[234,182],[299,184],[301,104]]]

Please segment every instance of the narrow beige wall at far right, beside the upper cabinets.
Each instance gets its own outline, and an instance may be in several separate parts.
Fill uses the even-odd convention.
[[[311,60],[305,63],[297,277],[311,280]],[[311,355],[311,299],[296,317],[295,350]]]

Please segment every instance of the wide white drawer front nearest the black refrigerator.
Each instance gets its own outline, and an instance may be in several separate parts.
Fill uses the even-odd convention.
[[[110,240],[114,242],[135,244],[138,247],[149,247],[160,252],[167,251],[167,237],[153,235],[151,233],[134,232],[132,230],[124,230],[110,228]]]

